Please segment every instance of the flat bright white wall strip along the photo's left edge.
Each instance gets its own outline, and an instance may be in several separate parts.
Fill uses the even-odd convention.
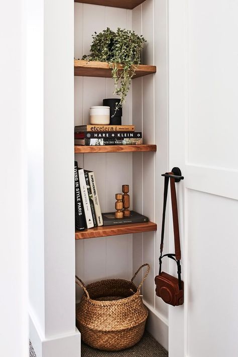
[[[0,11],[0,355],[28,354],[24,2]]]

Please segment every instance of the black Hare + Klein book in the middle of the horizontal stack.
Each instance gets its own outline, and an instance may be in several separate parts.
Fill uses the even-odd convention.
[[[142,138],[142,132],[85,132],[74,133],[74,139],[125,139]]]

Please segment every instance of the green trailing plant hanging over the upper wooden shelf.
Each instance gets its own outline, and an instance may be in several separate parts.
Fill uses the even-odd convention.
[[[141,51],[146,40],[135,31],[120,28],[116,32],[109,28],[99,34],[95,32],[92,38],[91,53],[84,55],[82,59],[109,63],[114,80],[113,94],[120,96],[118,108],[125,102],[132,77],[140,64]],[[119,64],[123,64],[123,69],[118,66]]]

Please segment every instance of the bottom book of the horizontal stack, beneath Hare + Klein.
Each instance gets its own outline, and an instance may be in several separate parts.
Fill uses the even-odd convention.
[[[142,138],[125,139],[74,139],[75,145],[101,146],[101,145],[142,145]]]

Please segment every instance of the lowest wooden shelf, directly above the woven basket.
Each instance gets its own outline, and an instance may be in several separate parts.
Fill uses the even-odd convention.
[[[105,237],[108,235],[130,234],[140,232],[151,232],[157,230],[157,224],[153,222],[130,223],[100,226],[75,232],[75,239],[87,239]]]

